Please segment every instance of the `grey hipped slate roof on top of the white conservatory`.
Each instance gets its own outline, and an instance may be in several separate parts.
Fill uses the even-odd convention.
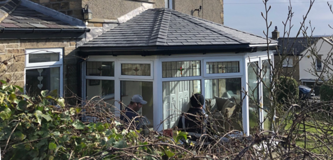
[[[171,9],[148,9],[82,47],[266,44],[265,38]],[[272,43],[277,43],[272,41]]]

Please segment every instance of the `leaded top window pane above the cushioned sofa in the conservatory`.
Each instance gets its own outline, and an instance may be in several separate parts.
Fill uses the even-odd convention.
[[[239,73],[239,62],[207,62],[207,74]]]

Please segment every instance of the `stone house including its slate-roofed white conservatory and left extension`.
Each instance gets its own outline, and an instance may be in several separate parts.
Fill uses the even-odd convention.
[[[269,40],[267,54],[265,38],[222,25],[220,0],[114,0],[108,5],[110,1],[35,1],[44,6],[2,1],[0,57],[13,58],[3,65],[4,78],[30,94],[57,88],[65,97],[100,96],[115,105],[115,113],[122,109],[117,101],[128,104],[141,94],[148,103],[140,112],[157,131],[175,126],[181,111],[190,107],[192,93],[203,94],[211,107],[224,108],[227,100],[237,104],[233,110],[240,114],[234,120],[242,122],[247,135],[258,120],[263,122],[267,113],[257,104],[268,106],[262,83],[270,83],[270,74],[264,73],[271,72],[277,41]],[[71,10],[71,2],[80,7]],[[95,19],[74,15],[87,3]],[[264,81],[257,77],[261,70]],[[269,125],[265,120],[262,128]]]

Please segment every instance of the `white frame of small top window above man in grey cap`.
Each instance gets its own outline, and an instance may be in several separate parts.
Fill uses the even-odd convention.
[[[150,64],[150,76],[129,76],[122,75],[122,64]],[[119,79],[133,79],[133,80],[154,80],[154,67],[153,61],[118,61],[118,65],[120,67],[120,77]]]

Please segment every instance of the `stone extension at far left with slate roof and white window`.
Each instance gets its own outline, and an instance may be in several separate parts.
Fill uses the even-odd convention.
[[[46,89],[64,97],[76,93],[75,49],[85,32],[83,21],[42,5],[0,1],[1,79],[24,86],[30,95]]]

